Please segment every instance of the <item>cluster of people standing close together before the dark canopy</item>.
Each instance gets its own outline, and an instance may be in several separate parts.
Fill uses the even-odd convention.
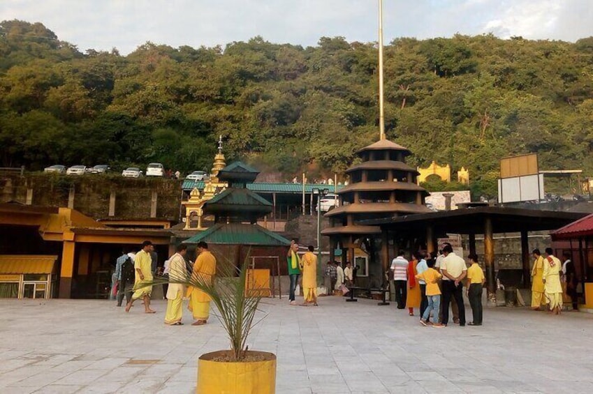
[[[471,266],[467,268],[462,257],[455,255],[451,244],[444,244],[439,255],[415,252],[411,260],[403,253],[393,259],[395,301],[397,309],[408,308],[414,315],[414,308],[420,308],[420,324],[435,328],[445,327],[449,321],[449,305],[453,311],[453,322],[465,326],[463,285],[467,285],[473,321],[469,326],[481,326],[483,319],[482,289],[485,275],[476,255],[469,256]],[[432,320],[431,320],[432,316]]]

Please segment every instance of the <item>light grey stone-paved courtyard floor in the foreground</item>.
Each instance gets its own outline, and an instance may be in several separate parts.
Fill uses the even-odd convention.
[[[277,393],[593,393],[593,315],[488,308],[484,326],[422,327],[392,303],[266,299],[250,349],[278,357]],[[193,393],[227,347],[217,319],[165,326],[138,304],[0,300],[0,393]],[[468,308],[469,309],[469,308]],[[471,321],[471,312],[469,319]]]

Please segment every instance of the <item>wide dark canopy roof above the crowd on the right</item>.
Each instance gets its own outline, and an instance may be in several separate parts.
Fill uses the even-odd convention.
[[[501,206],[483,206],[478,208],[456,209],[416,213],[413,215],[393,216],[390,218],[360,220],[360,225],[379,225],[381,229],[399,230],[425,234],[431,226],[434,234],[483,234],[484,221],[492,220],[492,232],[534,232],[558,229],[574,220],[583,218],[587,213],[564,211],[540,211],[537,209],[517,209]]]

